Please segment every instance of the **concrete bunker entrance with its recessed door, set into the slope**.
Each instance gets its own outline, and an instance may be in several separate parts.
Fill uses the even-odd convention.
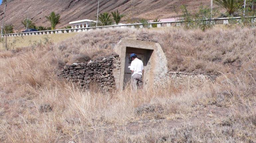
[[[115,52],[119,54],[119,67],[113,70],[116,88],[124,89],[129,85],[131,72],[128,66],[131,64],[130,54],[136,53],[138,58],[144,63],[144,87],[150,88],[161,81],[168,72],[167,59],[158,43],[121,39],[115,47]]]

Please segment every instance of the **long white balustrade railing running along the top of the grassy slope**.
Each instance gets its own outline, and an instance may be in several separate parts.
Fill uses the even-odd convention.
[[[255,18],[255,17],[252,17]],[[232,18],[214,18],[211,21],[214,21],[216,24],[229,24],[230,19],[240,20],[241,17],[232,17]],[[206,21],[208,19],[205,19]],[[254,19],[256,21],[256,19]],[[166,22],[149,22],[148,26],[152,27],[152,24],[157,24],[157,27],[171,27],[171,26],[181,26],[181,23],[185,21],[176,20],[176,21],[166,21]],[[45,35],[45,34],[60,34],[60,33],[72,33],[72,32],[85,32],[93,29],[102,29],[102,28],[110,28],[110,27],[131,27],[131,28],[143,28],[145,23],[134,23],[134,24],[123,24],[123,25],[109,25],[109,26],[97,26],[97,27],[83,27],[83,28],[72,28],[72,29],[56,29],[56,30],[46,30],[46,31],[33,31],[33,32],[23,32],[23,33],[11,33],[1,35],[1,37],[19,37],[19,36],[27,36],[27,35]]]

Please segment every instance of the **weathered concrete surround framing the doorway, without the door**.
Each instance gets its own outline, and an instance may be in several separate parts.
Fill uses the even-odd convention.
[[[144,68],[144,88],[150,88],[158,84],[158,82],[161,81],[161,78],[165,77],[168,72],[167,59],[160,44],[140,40],[121,39],[115,47],[115,52],[119,54],[120,58],[120,68],[116,68],[113,72],[114,77],[119,77],[119,79],[115,79],[117,89],[124,89],[124,65],[128,48],[152,51],[152,54],[150,55],[150,58],[148,59],[148,62]]]

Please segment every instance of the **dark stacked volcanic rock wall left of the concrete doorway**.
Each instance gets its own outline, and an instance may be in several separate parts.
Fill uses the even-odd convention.
[[[119,58],[118,54],[111,54],[89,62],[65,65],[62,70],[57,72],[57,76],[72,81],[80,88],[89,89],[91,83],[96,83],[103,89],[115,89],[112,70],[115,68],[113,63],[117,57]]]

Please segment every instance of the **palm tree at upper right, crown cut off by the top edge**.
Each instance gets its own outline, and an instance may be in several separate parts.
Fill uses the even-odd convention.
[[[230,16],[242,6],[243,0],[214,0],[214,4],[224,7]]]

